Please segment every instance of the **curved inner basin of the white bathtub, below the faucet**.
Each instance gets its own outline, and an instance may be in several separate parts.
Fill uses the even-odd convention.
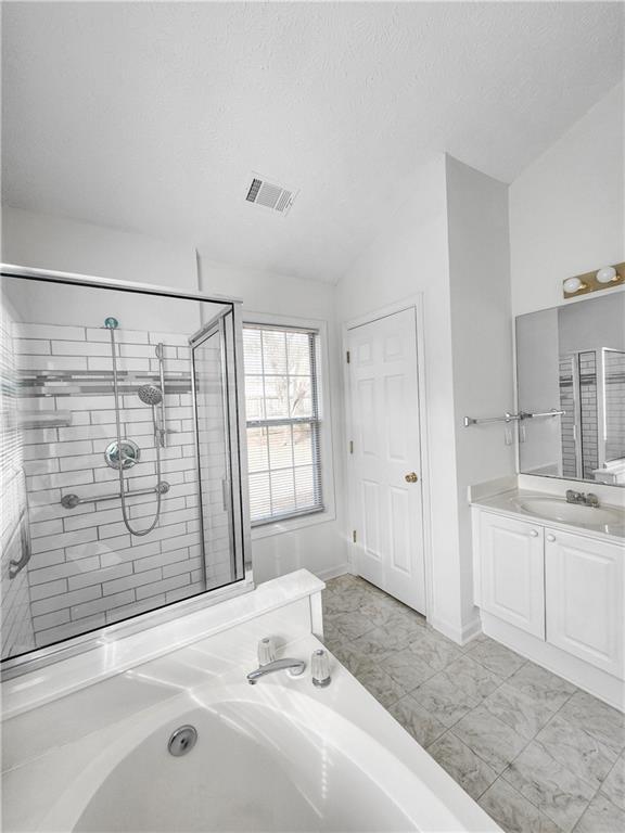
[[[75,782],[50,829],[417,830],[395,800],[394,781],[410,774],[353,727],[342,726],[339,743],[330,743],[336,721],[329,710],[302,695],[288,700],[253,703],[245,690],[233,690],[228,700],[131,732]],[[167,741],[181,723],[194,726],[199,738],[177,758]]]

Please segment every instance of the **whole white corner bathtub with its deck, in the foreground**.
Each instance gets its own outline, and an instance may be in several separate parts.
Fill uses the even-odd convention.
[[[306,606],[254,628],[292,629]],[[337,661],[327,689],[308,672],[248,685],[256,636],[229,629],[7,721],[4,830],[499,830]],[[308,631],[282,653],[319,646]],[[183,725],[197,741],[175,757]]]

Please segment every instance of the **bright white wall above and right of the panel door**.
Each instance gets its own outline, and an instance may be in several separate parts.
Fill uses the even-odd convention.
[[[426,425],[423,448],[430,459],[421,482],[431,498],[434,592],[431,620],[461,629],[458,564],[458,504],[447,252],[445,157],[436,156],[395,196],[380,230],[337,285],[341,322],[422,294]],[[445,585],[445,587],[443,587]]]

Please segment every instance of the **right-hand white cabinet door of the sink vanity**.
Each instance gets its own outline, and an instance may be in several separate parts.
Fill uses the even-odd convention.
[[[545,530],[547,641],[623,677],[623,546]]]

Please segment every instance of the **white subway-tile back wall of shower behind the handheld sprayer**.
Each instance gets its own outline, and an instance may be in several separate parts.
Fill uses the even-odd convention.
[[[17,364],[25,373],[42,371],[50,380],[58,371],[104,372],[100,393],[26,397],[23,407],[66,412],[66,427],[23,431],[24,459],[30,498],[33,559],[28,569],[30,605],[37,645],[49,644],[91,628],[151,610],[199,592],[205,587],[197,509],[197,472],[187,335],[117,331],[120,370],[145,372],[157,383],[155,345],[165,344],[167,437],[163,478],[170,491],[163,496],[158,526],[145,537],[131,537],[120,502],[86,503],[64,509],[61,497],[103,496],[118,490],[118,474],[104,463],[104,449],[115,438],[111,390],[110,335],[105,330],[78,326],[20,324],[14,331]],[[142,382],[143,383],[143,382]],[[141,447],[141,461],[128,470],[131,489],[155,484],[152,409],[136,393],[122,396],[123,435]],[[129,501],[138,528],[151,523],[154,495]],[[216,508],[222,513],[222,507]],[[209,522],[211,518],[208,518]]]

